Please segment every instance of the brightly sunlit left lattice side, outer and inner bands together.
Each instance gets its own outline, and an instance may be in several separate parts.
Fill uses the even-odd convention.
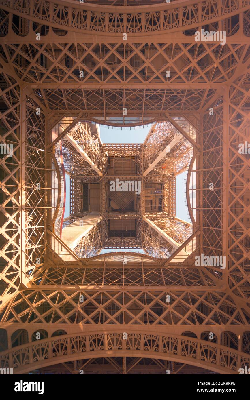
[[[1,299],[8,299],[44,260],[46,182],[44,115],[33,96],[1,74]],[[26,121],[22,124],[22,121]],[[26,136],[26,140],[21,140]],[[12,149],[12,150],[11,150]]]

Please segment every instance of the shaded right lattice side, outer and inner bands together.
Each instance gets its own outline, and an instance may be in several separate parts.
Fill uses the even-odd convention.
[[[214,116],[204,118],[204,158],[199,172],[204,179],[203,248],[210,255],[215,252],[226,255],[228,283],[243,298],[249,296],[250,283],[247,200],[250,162],[249,155],[238,150],[239,143],[249,141],[249,96],[244,89],[247,82],[249,74],[239,74],[223,101],[215,100]],[[214,190],[209,190],[210,182],[214,183]],[[221,279],[226,279],[224,274]]]

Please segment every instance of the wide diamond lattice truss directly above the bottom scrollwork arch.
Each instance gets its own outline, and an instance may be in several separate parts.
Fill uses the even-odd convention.
[[[101,277],[100,280],[102,282]],[[84,304],[80,304],[79,302],[81,293],[83,293],[85,298]],[[236,324],[236,327],[238,327],[244,322],[240,313],[236,312],[234,302],[223,292],[206,293],[205,295],[204,293],[198,294],[196,292],[184,294],[181,290],[181,296],[179,296],[177,292],[170,290],[168,294],[175,303],[171,308],[169,308],[169,305],[165,301],[166,292],[160,291],[159,288],[157,293],[153,291],[145,293],[137,289],[136,291],[129,290],[129,293],[119,290],[119,293],[109,292],[105,294],[103,291],[89,290],[87,294],[86,292],[80,292],[80,295],[79,291],[67,290],[62,294],[61,291],[53,290],[53,292],[49,293],[48,298],[43,296],[43,291],[37,292],[33,290],[32,292],[23,293],[21,301],[18,302],[20,305],[14,302],[8,318],[3,318],[2,323],[18,322],[18,318],[12,312],[19,310],[21,306],[23,307],[23,323],[30,323],[31,326],[27,328],[33,331],[35,329],[33,324],[44,323],[44,326],[41,326],[41,328],[48,329],[48,324],[54,324],[55,327],[52,327],[54,330],[56,330],[58,324],[64,324],[65,326],[62,328],[67,332],[67,325],[79,322],[82,324],[91,324],[92,329],[95,329],[95,325],[100,322],[114,324],[115,326],[119,326],[120,324],[142,325],[150,323],[159,327],[159,325],[163,324],[168,328],[172,323],[182,325],[181,329],[184,331],[183,326],[186,326],[186,322],[188,321],[187,330],[195,332],[194,326],[196,324],[203,325],[201,328],[207,330],[205,322],[207,316],[207,325],[210,325],[209,328],[218,323],[226,325],[226,328],[229,328],[231,324]],[[59,298],[54,303],[53,300],[57,296]],[[123,299],[127,303],[129,302],[126,310],[123,310]],[[54,311],[49,306],[51,301],[54,303]],[[32,312],[30,311],[29,302],[33,305]],[[38,302],[40,303],[39,308]],[[192,302],[196,304],[196,308],[199,306],[198,310],[194,310]],[[221,304],[218,306],[218,303]],[[228,309],[234,314],[233,318],[228,316]],[[214,326],[214,331],[219,332],[216,326]]]

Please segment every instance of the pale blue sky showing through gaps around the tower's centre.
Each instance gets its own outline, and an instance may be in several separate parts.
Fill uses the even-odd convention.
[[[112,127],[104,127],[101,125],[101,140],[103,143],[143,143],[151,125],[144,127],[121,129]],[[177,175],[176,177],[176,216],[182,218],[185,221],[189,221],[190,217],[188,209],[185,206],[185,176],[187,172]],[[70,209],[70,196],[69,196],[69,175],[66,175],[66,206],[64,218],[69,216]]]

